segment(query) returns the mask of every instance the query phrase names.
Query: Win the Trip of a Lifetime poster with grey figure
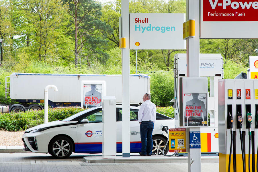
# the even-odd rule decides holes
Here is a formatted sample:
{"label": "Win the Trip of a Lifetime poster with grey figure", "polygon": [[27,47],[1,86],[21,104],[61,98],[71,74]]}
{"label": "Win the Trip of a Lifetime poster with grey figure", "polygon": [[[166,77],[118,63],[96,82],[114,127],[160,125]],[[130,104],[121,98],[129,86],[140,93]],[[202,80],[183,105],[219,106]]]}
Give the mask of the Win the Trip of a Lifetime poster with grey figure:
{"label": "Win the Trip of a Lifetime poster with grey figure", "polygon": [[207,94],[183,94],[184,126],[207,126]]}

